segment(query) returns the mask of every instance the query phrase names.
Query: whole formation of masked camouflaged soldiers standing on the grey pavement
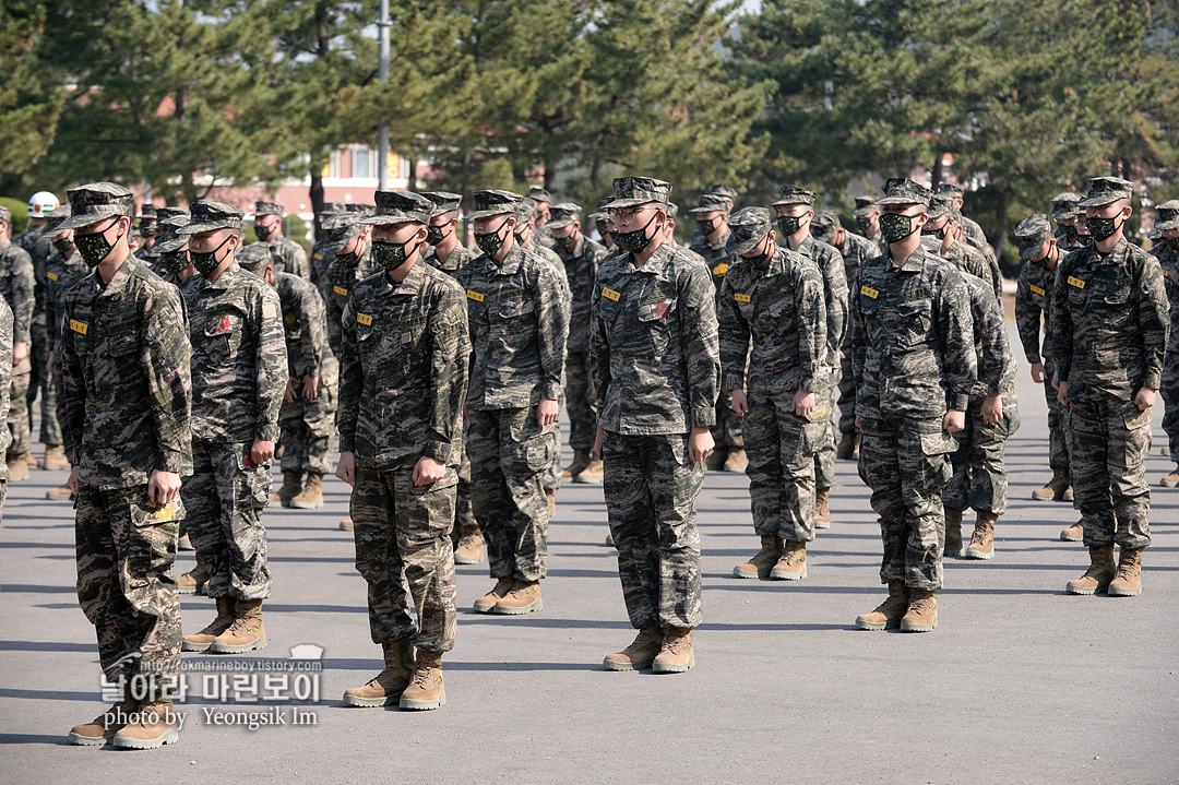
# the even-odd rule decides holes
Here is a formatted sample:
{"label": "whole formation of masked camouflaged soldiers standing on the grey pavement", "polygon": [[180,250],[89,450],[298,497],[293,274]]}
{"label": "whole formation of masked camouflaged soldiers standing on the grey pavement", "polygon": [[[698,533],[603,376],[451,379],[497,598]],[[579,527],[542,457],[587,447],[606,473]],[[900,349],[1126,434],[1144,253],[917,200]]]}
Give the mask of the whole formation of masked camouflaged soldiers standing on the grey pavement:
{"label": "whole formation of masked camouflaged soldiers standing on the grey pavement", "polygon": [[[971,239],[981,230],[961,191],[903,178],[883,191],[857,205],[857,236],[805,189],[735,211],[718,186],[692,210],[687,249],[663,180],[615,180],[588,216],[608,248],[582,232],[575,204],[480,191],[466,216],[477,253],[459,242],[457,194],[377,192],[374,207],[324,216],[310,262],[279,238],[277,205],[256,205],[259,242],[243,249],[242,211],[197,202],[157,209],[152,272],[131,253],[131,193],[71,190],[44,230],[60,270],[47,365],[74,467],[79,599],[104,671],[127,690],[71,738],[173,741],[182,646],[265,646],[261,513],[322,504],[334,431],[384,659],[349,705],[446,702],[456,561],[486,552],[495,582],[475,612],[542,609],[561,405],[574,449],[564,475],[604,483],[638,631],[607,669],[694,665],[706,466],[750,477],[762,547],[735,575],[803,580],[806,546],[830,526],[834,461],[858,449],[889,595],[856,625],[935,628],[943,556],[994,555],[1015,367],[994,251]],[[1021,339],[1060,404],[1050,461],[1068,473],[1091,550],[1074,593],[1137,594],[1150,540],[1141,469],[1170,317],[1158,260],[1122,237],[1131,197],[1128,183],[1094,178],[1069,215],[1054,211],[1062,227],[1086,211],[1093,242],[1067,258],[1046,216],[1016,232]],[[1179,220],[1160,209],[1158,229],[1173,268]],[[1038,368],[1043,357],[1053,364]],[[276,442],[284,482],[271,496]],[[1066,497],[1060,481],[1043,493]],[[203,586],[217,606],[183,640],[182,522],[198,562],[182,591]]]}

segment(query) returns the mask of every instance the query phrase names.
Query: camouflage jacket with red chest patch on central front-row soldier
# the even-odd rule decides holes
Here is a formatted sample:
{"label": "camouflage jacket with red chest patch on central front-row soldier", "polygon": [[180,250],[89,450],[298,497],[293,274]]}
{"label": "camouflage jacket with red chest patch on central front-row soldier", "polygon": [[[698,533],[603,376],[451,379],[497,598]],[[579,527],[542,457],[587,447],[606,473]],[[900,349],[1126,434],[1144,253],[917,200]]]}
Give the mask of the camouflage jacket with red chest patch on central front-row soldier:
{"label": "camouflage jacket with red chest patch on central front-row soldier", "polygon": [[594,283],[590,370],[598,422],[624,435],[711,427],[720,348],[709,272],[666,242],[641,268],[632,258],[610,257]]}

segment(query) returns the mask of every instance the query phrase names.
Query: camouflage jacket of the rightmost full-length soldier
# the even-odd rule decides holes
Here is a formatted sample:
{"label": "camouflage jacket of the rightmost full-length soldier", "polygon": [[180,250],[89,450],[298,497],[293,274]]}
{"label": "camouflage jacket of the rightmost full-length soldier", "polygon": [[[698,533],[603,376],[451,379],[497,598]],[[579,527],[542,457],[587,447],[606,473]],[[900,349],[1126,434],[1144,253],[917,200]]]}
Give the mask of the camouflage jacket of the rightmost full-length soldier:
{"label": "camouflage jacket of the rightmost full-length soldier", "polygon": [[1171,321],[1159,260],[1121,238],[1105,256],[1096,245],[1069,253],[1056,282],[1053,352],[1068,397],[1131,401],[1159,389]]}

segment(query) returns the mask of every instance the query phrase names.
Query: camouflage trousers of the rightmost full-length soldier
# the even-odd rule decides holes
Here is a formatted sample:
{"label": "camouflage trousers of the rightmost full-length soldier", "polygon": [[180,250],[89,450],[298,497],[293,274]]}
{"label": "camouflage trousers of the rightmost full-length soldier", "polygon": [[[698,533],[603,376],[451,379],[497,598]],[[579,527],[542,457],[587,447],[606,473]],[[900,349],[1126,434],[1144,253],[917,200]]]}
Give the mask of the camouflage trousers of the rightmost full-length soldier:
{"label": "camouflage trousers of the rightmost full-length soldier", "polygon": [[1146,456],[1152,410],[1113,397],[1073,400],[1068,408],[1069,477],[1085,545],[1145,548],[1151,545]]}

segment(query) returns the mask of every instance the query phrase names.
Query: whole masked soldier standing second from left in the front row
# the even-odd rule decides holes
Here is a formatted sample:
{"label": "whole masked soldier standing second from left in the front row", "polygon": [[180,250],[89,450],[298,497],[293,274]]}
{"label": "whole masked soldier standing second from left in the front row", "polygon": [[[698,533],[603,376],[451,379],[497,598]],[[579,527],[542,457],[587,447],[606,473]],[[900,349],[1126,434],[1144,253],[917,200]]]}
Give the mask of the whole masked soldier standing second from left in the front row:
{"label": "whole masked soldier standing second from left in the front row", "polygon": [[427,710],[446,705],[442,654],[456,626],[450,528],[467,306],[457,282],[422,259],[434,203],[378,191],[376,204],[364,223],[374,226],[382,272],[355,284],[344,311],[336,475],[353,486],[356,569],[368,582],[369,627],[386,667],[348,690],[344,702]]}

